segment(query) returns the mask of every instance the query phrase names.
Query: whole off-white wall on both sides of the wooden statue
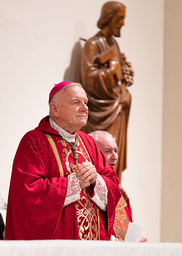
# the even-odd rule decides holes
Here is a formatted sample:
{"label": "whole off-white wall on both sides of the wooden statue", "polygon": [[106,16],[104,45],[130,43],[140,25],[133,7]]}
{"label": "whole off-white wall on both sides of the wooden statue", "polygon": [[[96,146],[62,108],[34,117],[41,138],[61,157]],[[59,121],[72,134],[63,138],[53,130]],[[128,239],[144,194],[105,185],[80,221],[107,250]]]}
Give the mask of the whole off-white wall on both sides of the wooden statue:
{"label": "whole off-white wall on both sides of the wooden statue", "polygon": [[[12,161],[22,136],[48,114],[55,83],[77,79],[79,37],[91,37],[105,0],[1,0],[0,190],[8,195]],[[133,220],[149,242],[160,240],[163,0],[125,0],[118,38],[135,70],[122,185]]]}

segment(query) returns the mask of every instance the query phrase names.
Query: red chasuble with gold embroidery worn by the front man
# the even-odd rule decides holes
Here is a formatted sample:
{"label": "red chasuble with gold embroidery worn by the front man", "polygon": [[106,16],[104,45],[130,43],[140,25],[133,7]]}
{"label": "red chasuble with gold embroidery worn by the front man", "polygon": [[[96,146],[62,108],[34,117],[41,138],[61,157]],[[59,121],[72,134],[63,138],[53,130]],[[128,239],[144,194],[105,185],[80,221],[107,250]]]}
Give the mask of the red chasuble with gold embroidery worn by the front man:
{"label": "red chasuble with gold embroidery worn by the front man", "polygon": [[95,165],[106,182],[108,207],[103,212],[90,199],[92,186],[81,191],[80,200],[63,207],[67,176],[74,172],[75,161],[71,145],[57,135],[48,116],[20,141],[10,181],[5,239],[110,240],[121,197],[114,168],[89,135],[77,132],[78,163],[91,161]]}

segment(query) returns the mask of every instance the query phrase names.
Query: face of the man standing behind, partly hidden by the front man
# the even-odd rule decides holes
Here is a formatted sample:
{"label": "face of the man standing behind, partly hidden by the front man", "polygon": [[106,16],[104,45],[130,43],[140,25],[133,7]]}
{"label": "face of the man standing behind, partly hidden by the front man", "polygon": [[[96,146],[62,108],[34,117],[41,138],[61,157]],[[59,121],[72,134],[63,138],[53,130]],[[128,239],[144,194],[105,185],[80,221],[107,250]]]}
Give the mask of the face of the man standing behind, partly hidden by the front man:
{"label": "face of the man standing behind, partly hidden by the front man", "polygon": [[99,142],[97,143],[98,148],[104,153],[107,159],[107,163],[112,165],[116,169],[118,155],[117,155],[117,144],[114,138],[109,135],[100,136]]}

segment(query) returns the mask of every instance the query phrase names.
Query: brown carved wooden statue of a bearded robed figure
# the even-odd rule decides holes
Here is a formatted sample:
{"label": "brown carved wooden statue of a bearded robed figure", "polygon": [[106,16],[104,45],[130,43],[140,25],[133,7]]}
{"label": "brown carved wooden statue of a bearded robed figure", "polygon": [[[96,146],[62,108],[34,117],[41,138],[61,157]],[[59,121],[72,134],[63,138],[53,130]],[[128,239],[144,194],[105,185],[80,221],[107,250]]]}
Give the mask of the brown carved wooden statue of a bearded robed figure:
{"label": "brown carved wooden statue of a bearded robed figure", "polygon": [[106,2],[97,26],[101,29],[86,41],[81,58],[81,84],[88,101],[89,116],[82,131],[105,130],[113,135],[118,145],[116,173],[126,168],[127,124],[131,95],[127,86],[133,83],[133,69],[120,52],[114,37],[120,37],[124,25],[125,5]]}

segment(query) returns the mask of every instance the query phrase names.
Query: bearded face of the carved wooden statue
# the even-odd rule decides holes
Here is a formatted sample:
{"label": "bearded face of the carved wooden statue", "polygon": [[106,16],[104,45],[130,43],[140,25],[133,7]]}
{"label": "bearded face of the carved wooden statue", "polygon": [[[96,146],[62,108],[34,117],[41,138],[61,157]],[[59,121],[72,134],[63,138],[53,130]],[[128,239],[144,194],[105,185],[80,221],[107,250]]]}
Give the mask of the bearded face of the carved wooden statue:
{"label": "bearded face of the carved wooden statue", "polygon": [[120,37],[121,27],[124,26],[125,24],[124,19],[125,19],[125,8],[122,7],[121,9],[118,10],[118,12],[111,19],[111,22],[108,25],[113,36]]}

